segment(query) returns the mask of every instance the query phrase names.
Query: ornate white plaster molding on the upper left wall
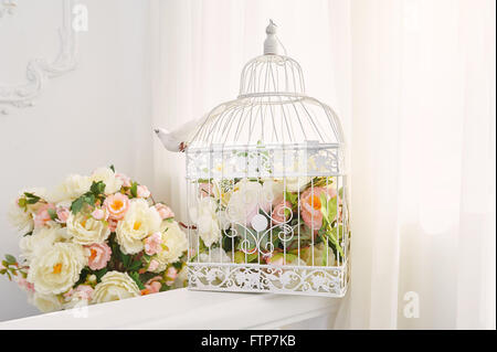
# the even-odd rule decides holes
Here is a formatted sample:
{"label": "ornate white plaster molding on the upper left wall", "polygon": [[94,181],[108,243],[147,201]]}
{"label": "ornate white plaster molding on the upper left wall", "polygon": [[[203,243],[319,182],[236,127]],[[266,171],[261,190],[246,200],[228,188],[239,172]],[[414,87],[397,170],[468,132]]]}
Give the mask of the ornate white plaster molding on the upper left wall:
{"label": "ornate white plaster molding on the upper left wall", "polygon": [[[33,106],[36,98],[45,88],[50,78],[61,76],[76,67],[76,33],[72,28],[72,9],[74,0],[61,0],[62,26],[59,29],[60,50],[55,58],[29,60],[25,71],[27,81],[18,85],[0,83],[0,113],[9,114],[8,107],[23,108]],[[4,13],[11,13],[9,9],[15,7],[14,1],[1,2],[0,9],[8,6]],[[2,10],[0,10],[2,11]],[[1,18],[1,15],[0,15]]]}

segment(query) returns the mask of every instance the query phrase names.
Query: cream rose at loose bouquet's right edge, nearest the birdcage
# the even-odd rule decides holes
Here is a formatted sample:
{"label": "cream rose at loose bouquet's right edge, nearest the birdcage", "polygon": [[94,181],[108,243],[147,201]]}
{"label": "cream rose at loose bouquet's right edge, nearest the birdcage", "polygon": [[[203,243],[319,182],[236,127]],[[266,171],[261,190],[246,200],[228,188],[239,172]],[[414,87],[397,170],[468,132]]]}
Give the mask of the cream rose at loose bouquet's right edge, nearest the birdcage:
{"label": "cream rose at loose bouquet's right edge, nearest the birdcage", "polygon": [[152,257],[159,265],[151,270],[152,273],[166,270],[168,264],[178,262],[183,252],[188,249],[187,235],[181,231],[178,223],[176,221],[171,223],[165,221],[165,223],[166,231],[161,232],[162,250]]}

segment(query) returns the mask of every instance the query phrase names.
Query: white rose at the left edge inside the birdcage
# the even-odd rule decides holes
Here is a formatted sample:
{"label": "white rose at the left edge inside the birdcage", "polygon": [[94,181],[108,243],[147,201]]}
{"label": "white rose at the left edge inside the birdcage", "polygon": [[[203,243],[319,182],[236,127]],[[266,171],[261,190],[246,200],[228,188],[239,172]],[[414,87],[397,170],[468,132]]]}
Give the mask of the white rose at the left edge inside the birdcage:
{"label": "white rose at the left edge inside the birdcage", "polygon": [[221,238],[216,207],[216,202],[207,196],[202,198],[195,207],[190,209],[191,221],[197,225],[199,236],[208,247]]}

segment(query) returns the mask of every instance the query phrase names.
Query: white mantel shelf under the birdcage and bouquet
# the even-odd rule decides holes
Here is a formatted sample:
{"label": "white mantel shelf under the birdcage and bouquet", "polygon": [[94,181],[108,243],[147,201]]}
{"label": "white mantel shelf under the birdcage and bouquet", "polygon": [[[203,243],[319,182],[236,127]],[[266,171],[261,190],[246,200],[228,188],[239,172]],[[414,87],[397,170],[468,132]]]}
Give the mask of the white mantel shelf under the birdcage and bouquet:
{"label": "white mantel shelf under the birdcage and bouquet", "polygon": [[[0,329],[277,329],[332,314],[339,299],[177,289],[0,322]],[[86,316],[86,317],[85,317]]]}

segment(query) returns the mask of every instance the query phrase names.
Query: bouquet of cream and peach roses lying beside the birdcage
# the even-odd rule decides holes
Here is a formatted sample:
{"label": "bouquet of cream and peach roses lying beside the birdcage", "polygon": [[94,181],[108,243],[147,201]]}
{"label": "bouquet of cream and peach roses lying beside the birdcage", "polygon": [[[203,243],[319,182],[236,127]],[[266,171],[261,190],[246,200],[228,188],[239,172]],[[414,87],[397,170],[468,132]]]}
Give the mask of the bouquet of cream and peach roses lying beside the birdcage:
{"label": "bouquet of cream and peach roses lying beside the birdcage", "polygon": [[23,234],[21,258],[0,274],[41,311],[137,297],[186,284],[187,236],[146,185],[99,168],[47,192],[20,193],[10,218]]}

